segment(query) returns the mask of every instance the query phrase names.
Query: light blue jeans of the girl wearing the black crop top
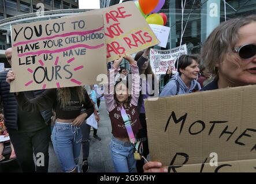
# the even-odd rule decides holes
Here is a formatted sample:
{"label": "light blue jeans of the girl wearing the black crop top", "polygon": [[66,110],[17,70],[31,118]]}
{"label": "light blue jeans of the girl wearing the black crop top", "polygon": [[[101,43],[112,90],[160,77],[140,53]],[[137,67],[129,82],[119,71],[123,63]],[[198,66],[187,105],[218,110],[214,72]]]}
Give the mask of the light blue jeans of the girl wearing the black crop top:
{"label": "light blue jeans of the girl wearing the black crop top", "polygon": [[75,170],[79,162],[81,139],[80,127],[56,121],[51,133],[51,141],[64,172]]}

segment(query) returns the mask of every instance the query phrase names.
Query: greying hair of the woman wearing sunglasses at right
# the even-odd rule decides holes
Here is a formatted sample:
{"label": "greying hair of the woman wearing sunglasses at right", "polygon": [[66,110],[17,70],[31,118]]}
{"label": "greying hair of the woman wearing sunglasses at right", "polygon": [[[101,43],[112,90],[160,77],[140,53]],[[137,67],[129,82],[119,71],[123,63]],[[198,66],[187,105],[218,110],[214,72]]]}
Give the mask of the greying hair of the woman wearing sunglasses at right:
{"label": "greying hair of the woman wearing sunglasses at right", "polygon": [[207,37],[201,51],[202,62],[210,73],[216,74],[216,64],[234,55],[233,49],[238,42],[239,29],[256,21],[256,15],[239,17],[222,22]]}

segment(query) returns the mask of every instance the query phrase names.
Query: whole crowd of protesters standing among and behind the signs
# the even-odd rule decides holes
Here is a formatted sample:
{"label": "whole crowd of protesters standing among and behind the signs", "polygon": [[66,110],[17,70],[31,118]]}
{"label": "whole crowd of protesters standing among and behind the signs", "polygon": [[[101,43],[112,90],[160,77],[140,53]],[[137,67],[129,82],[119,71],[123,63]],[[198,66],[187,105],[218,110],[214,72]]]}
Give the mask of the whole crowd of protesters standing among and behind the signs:
{"label": "whole crowd of protesters standing among and behind the signs", "polygon": [[[222,22],[207,37],[199,55],[177,58],[177,74],[168,68],[165,86],[159,94],[157,77],[149,63],[150,48],[136,53],[134,58],[125,53],[115,60],[104,94],[99,95],[94,86],[10,93],[9,84],[16,75],[11,70],[1,72],[5,125],[22,170],[47,172],[51,133],[62,170],[80,172],[78,160],[82,147],[82,170],[87,172],[91,127],[84,122],[90,116],[99,121],[99,99],[104,95],[112,125],[110,152],[114,170],[118,173],[167,172],[160,162],[144,162],[150,153],[144,99],[256,84],[255,33],[255,15]],[[6,58],[12,64],[11,48],[6,50]],[[123,58],[128,60],[132,75],[120,67]],[[50,132],[53,111],[56,120]],[[100,140],[97,131],[94,138]],[[46,156],[43,167],[34,164],[33,154],[38,152]]]}

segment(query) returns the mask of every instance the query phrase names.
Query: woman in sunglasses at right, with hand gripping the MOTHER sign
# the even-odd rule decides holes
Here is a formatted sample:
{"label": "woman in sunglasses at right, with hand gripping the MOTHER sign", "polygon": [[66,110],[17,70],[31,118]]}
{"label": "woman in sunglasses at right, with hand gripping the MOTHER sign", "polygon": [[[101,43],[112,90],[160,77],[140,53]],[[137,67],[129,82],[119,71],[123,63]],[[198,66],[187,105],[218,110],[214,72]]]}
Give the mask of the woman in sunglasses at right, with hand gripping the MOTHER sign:
{"label": "woman in sunglasses at right, with hand gripping the MOTHER sign", "polygon": [[[206,68],[215,75],[202,91],[256,84],[256,15],[222,22],[202,49]],[[147,162],[146,173],[166,173],[160,162]]]}

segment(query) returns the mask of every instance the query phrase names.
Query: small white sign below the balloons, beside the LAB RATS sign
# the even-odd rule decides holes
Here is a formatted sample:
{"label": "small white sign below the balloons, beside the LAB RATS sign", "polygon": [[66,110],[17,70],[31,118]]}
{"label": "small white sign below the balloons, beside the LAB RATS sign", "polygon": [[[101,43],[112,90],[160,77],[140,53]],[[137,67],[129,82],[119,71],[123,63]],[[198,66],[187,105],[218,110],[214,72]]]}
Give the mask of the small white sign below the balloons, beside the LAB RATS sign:
{"label": "small white sign below the balloons, beside the LAB RATS sign", "polygon": [[160,43],[157,45],[159,47],[166,48],[167,40],[169,39],[170,28],[163,25],[157,25],[157,24],[149,24],[149,26],[153,30],[157,39],[160,41]]}

